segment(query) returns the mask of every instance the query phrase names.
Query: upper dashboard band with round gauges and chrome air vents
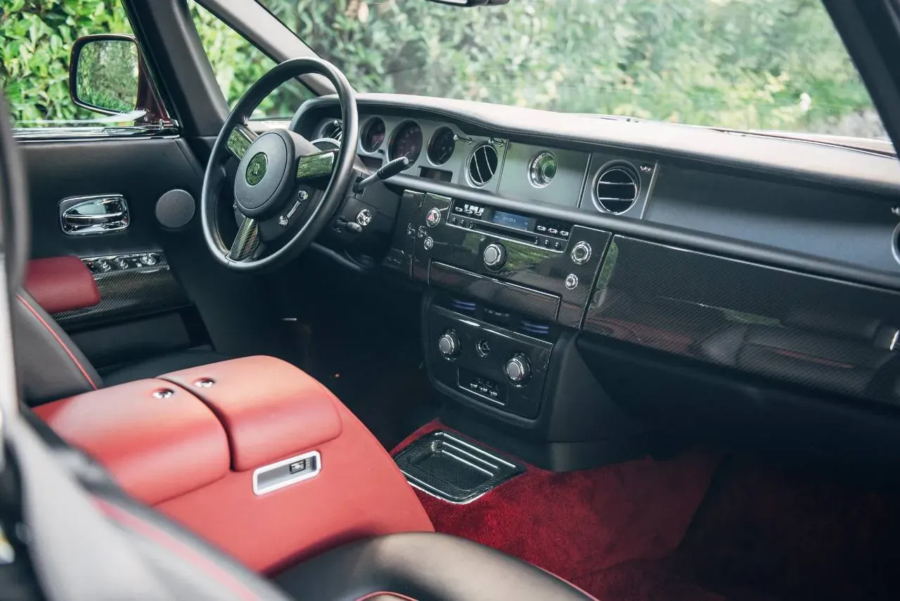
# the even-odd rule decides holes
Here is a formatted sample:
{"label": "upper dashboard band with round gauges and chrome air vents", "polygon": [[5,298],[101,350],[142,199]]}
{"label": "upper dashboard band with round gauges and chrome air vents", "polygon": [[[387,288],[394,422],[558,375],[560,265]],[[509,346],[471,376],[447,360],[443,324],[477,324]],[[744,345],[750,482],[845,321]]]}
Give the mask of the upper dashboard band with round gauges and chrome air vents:
{"label": "upper dashboard band with round gauges and chrome air vents", "polygon": [[[502,132],[466,132],[446,120],[363,114],[361,123],[358,151],[369,168],[403,155],[410,159],[404,175],[412,178],[660,223],[900,275],[898,220],[891,212],[896,201],[891,186],[900,186],[896,159],[829,149],[829,160],[819,173],[791,173],[789,165],[776,163],[765,167],[782,168],[784,174],[761,178],[762,165],[750,166],[748,172],[600,145],[575,150],[558,142],[510,140]],[[333,118],[321,117],[304,133],[329,137],[332,126]],[[691,129],[686,133],[697,133]],[[822,150],[799,141],[767,142],[775,158],[810,147]],[[717,150],[710,147],[707,160]],[[829,163],[841,161],[842,155],[880,165],[878,178],[854,182],[865,169],[845,168],[846,181],[836,187],[828,181],[837,174]],[[878,188],[880,194],[874,192]]]}

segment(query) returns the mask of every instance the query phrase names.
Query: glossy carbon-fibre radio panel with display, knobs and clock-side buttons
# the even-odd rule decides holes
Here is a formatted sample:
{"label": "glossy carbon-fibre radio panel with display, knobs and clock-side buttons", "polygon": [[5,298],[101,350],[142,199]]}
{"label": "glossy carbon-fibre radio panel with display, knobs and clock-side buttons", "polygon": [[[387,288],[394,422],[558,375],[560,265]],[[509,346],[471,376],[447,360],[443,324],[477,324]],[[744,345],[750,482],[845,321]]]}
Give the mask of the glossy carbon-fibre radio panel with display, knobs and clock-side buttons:
{"label": "glossy carbon-fibre radio panel with display, knobs and clock-side buttons", "polygon": [[515,314],[581,326],[610,232],[410,190],[403,201],[401,211],[418,208],[418,219],[395,234],[405,246],[392,256],[411,250],[412,279]]}

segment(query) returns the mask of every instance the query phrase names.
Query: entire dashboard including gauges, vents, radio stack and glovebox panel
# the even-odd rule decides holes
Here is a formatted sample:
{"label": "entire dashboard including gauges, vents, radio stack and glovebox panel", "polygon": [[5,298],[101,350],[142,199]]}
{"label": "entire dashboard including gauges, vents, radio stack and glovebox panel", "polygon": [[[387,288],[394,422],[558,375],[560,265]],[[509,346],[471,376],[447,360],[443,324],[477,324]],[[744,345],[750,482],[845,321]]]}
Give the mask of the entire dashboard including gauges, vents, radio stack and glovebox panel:
{"label": "entire dashboard including gauges, vents, radio stack and glovebox panel", "polygon": [[[572,404],[554,361],[574,345],[598,396],[666,420],[690,398],[739,427],[812,411],[824,433],[846,426],[835,407],[900,408],[896,157],[418,96],[358,103],[365,166],[410,159],[386,182],[401,201],[381,265],[425,289],[429,375],[458,403],[550,428]],[[292,127],[328,137],[336,110],[308,102]]]}

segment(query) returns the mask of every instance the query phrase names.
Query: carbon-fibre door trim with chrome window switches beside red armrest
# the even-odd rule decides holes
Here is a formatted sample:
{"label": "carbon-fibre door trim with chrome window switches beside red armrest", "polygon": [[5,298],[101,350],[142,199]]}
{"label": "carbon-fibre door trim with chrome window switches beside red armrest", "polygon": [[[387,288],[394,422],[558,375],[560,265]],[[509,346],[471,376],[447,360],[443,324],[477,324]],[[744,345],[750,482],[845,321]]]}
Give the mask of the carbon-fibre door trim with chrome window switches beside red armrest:
{"label": "carbon-fibre door trim with chrome window switches beside red armrest", "polygon": [[[94,272],[100,288],[100,303],[84,309],[54,314],[53,318],[67,330],[79,330],[148,314],[163,313],[190,305],[184,289],[169,269],[165,255],[152,253],[157,262],[141,262],[145,253],[112,255],[82,259]],[[127,267],[120,268],[116,260]],[[98,264],[110,270],[97,272]]]}

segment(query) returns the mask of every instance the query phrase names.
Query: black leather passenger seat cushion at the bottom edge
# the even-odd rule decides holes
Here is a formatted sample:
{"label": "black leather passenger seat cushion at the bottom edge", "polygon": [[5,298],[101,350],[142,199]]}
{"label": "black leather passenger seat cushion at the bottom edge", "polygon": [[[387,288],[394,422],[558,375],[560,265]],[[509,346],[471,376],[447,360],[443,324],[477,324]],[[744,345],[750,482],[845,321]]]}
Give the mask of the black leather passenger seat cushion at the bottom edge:
{"label": "black leather passenger seat cushion at the bottom edge", "polygon": [[347,544],[284,571],[275,582],[294,599],[316,601],[593,598],[530,563],[437,533],[391,534]]}

